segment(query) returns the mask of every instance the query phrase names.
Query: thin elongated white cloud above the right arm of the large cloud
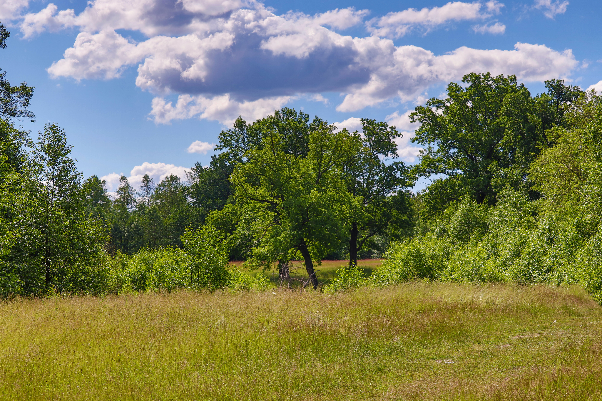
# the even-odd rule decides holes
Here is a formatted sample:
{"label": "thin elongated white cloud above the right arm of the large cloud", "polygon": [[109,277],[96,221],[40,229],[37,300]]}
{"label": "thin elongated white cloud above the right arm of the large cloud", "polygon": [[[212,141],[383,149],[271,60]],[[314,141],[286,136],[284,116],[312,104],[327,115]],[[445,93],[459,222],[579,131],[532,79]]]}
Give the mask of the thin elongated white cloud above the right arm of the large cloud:
{"label": "thin elongated white cloud above the right arm of the large cloud", "polygon": [[373,35],[399,38],[418,26],[428,30],[450,21],[485,19],[499,13],[501,7],[504,7],[504,4],[494,0],[485,4],[448,2],[441,7],[425,7],[421,10],[408,8],[396,13],[388,13],[386,16],[368,21],[366,27]]}

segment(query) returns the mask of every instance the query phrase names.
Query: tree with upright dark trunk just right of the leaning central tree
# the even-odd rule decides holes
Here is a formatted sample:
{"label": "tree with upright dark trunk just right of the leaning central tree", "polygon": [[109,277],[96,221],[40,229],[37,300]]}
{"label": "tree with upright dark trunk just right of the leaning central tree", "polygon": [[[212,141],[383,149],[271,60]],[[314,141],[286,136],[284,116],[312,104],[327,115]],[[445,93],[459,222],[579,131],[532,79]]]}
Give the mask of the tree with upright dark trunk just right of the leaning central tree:
{"label": "tree with upright dark trunk just right of the leaning central tree", "polygon": [[399,191],[411,185],[408,171],[403,162],[387,163],[398,157],[395,139],[401,135],[385,122],[362,118],[361,123],[364,136],[354,133],[357,147],[346,154],[343,167],[350,194],[361,198],[351,215],[350,266],[357,265],[358,252],[371,238],[409,222],[409,195]]}

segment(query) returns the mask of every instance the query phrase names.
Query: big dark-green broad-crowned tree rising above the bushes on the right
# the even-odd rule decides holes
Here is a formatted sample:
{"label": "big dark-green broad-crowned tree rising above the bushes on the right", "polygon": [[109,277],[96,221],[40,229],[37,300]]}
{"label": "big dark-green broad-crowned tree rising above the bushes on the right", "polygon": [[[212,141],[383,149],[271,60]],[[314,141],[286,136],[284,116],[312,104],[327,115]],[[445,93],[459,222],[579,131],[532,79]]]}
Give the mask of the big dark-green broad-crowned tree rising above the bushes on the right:
{"label": "big dark-green broad-crowned tree rising above the bushes on the right", "polygon": [[420,122],[412,139],[427,147],[414,173],[439,174],[424,194],[432,214],[464,195],[494,204],[498,191],[526,182],[529,164],[550,143],[545,131],[562,121],[579,96],[575,87],[547,81],[545,96],[531,97],[514,75],[465,75],[450,83],[445,99],[432,98],[410,115]]}

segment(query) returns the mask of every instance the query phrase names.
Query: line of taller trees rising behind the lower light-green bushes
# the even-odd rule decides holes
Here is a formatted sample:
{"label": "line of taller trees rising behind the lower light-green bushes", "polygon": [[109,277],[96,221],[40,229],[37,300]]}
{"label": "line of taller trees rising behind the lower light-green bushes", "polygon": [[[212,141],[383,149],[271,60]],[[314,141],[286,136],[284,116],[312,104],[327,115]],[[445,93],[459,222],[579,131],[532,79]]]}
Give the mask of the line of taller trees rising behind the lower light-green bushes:
{"label": "line of taller trees rising behind the lower light-green bushes", "polygon": [[[0,27],[5,47],[9,33]],[[504,191],[529,201],[545,196],[530,168],[594,96],[559,79],[532,96],[514,75],[465,75],[463,84],[448,85],[445,99],[412,112],[420,123],[412,141],[424,146],[414,166],[396,160],[401,134],[385,122],[362,118],[359,133],[290,108],[252,123],[239,117],[220,132],[221,152],[208,167],[197,163],[186,182],[145,175],[135,189],[121,177],[112,200],[98,176],[84,180],[78,172],[60,127],[46,124],[34,142],[14,126],[33,120],[34,88],[12,87],[4,77],[0,286],[26,294],[85,292],[107,256],[182,248],[193,232],[211,233],[229,259],[251,269],[278,265],[282,280],[290,278],[289,262],[302,259],[317,288],[314,263],[346,258],[356,266],[389,242],[429,233],[468,198],[495,207]],[[433,175],[439,178],[426,190],[411,192],[417,177]]]}

